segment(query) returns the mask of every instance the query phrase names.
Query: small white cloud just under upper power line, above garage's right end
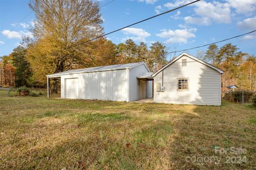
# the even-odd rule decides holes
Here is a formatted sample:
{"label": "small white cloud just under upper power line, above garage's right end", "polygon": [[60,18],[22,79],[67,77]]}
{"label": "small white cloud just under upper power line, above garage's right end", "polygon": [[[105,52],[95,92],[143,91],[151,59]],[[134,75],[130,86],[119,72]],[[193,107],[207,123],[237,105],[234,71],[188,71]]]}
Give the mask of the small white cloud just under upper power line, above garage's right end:
{"label": "small white cloud just under upper power line, above garage's right end", "polygon": [[145,38],[151,36],[150,33],[141,28],[125,28],[122,30],[125,35],[134,35],[125,39],[133,39],[134,41],[146,41]]}

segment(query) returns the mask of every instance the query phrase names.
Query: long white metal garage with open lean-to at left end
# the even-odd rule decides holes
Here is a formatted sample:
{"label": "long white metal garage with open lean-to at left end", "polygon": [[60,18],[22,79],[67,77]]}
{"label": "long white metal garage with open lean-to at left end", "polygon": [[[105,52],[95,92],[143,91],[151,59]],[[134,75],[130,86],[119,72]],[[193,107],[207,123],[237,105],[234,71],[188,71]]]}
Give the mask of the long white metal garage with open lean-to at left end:
{"label": "long white metal garage with open lean-to at left end", "polygon": [[145,97],[151,98],[152,81],[141,82],[142,80],[137,79],[138,75],[145,73],[149,73],[149,70],[143,62],[55,73],[47,75],[48,96],[50,96],[49,79],[60,77],[61,98],[127,102]]}

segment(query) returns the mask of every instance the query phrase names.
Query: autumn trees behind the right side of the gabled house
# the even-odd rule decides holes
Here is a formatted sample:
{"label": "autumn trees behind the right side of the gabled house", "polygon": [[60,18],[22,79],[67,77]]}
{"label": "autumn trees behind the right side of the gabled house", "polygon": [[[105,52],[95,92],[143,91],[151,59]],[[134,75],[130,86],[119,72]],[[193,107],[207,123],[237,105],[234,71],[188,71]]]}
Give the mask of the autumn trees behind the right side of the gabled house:
{"label": "autumn trees behind the right side of the gabled house", "polygon": [[231,43],[221,48],[210,45],[204,60],[225,71],[222,74],[223,90],[227,90],[230,84],[236,84],[240,90],[256,91],[256,58],[238,50]]}

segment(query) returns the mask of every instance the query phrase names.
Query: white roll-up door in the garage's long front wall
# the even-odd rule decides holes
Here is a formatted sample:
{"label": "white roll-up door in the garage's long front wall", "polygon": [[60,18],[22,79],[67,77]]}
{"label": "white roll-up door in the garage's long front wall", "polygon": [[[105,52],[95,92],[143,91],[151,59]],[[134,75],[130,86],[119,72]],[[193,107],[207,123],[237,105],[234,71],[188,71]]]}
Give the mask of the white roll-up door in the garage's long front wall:
{"label": "white roll-up door in the garage's long front wall", "polygon": [[65,94],[67,99],[78,99],[78,78],[65,79],[66,89]]}

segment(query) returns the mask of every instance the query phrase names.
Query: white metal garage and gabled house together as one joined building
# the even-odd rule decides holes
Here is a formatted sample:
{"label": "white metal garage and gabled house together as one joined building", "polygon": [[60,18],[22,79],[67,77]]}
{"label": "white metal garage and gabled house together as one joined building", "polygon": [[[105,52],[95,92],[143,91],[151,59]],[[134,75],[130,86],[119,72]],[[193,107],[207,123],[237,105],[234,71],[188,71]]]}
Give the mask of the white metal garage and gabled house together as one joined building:
{"label": "white metal garage and gabled house together as one joined building", "polygon": [[50,79],[59,77],[61,98],[66,99],[130,102],[154,96],[155,103],[219,106],[221,74],[217,67],[182,53],[155,73],[140,62],[50,74],[47,95]]}

